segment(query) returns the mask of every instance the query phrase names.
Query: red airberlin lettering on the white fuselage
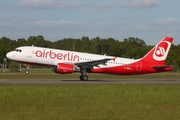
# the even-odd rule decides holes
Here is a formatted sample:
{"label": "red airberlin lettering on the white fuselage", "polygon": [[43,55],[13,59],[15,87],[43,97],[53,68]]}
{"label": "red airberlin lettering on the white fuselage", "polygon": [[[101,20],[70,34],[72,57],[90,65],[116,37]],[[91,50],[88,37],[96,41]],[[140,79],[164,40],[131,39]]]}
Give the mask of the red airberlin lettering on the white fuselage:
{"label": "red airberlin lettering on the white fuselage", "polygon": [[58,53],[56,53],[56,52],[53,52],[52,50],[46,51],[44,49],[44,50],[35,51],[35,55],[37,57],[41,57],[41,58],[51,58],[51,59],[79,62],[79,56],[74,55],[72,52],[68,52],[68,53],[60,53],[60,52],[58,52]]}

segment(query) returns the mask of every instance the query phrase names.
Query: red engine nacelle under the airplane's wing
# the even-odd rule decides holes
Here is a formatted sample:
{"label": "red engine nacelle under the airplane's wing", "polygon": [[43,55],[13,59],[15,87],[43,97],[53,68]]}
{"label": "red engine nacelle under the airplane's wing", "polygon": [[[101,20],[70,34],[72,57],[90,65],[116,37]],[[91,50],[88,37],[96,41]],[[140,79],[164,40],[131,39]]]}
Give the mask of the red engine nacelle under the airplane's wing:
{"label": "red engine nacelle under the airplane's wing", "polygon": [[70,74],[75,70],[73,64],[58,63],[55,68],[55,73]]}

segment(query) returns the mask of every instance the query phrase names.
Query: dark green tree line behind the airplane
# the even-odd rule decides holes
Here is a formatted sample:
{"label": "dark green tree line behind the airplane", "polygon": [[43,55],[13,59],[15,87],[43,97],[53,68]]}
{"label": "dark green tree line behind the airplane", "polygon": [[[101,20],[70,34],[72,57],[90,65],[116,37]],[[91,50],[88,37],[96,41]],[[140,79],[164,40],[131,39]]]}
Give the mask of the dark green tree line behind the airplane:
{"label": "dark green tree line behind the airplane", "polygon": [[[143,57],[152,47],[154,47],[152,45],[146,45],[144,40],[136,37],[115,40],[113,38],[102,39],[100,37],[89,39],[88,37],[83,36],[80,39],[64,38],[54,42],[45,40],[42,35],[30,36],[27,39],[19,38],[17,40],[2,37],[0,38],[0,64],[2,65],[7,52],[12,51],[19,46],[31,45],[134,59]],[[180,45],[172,44],[166,64],[173,65],[174,71],[178,71],[180,68],[179,52]],[[11,61],[8,60],[8,65],[10,63]]]}

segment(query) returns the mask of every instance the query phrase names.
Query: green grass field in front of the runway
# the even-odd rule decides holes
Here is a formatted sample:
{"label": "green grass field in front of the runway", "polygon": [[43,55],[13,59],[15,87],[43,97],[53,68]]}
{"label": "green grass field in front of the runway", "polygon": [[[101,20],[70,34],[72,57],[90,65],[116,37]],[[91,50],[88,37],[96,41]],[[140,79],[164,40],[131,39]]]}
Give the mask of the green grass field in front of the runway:
{"label": "green grass field in front of the runway", "polygon": [[179,85],[0,85],[2,120],[180,119]]}

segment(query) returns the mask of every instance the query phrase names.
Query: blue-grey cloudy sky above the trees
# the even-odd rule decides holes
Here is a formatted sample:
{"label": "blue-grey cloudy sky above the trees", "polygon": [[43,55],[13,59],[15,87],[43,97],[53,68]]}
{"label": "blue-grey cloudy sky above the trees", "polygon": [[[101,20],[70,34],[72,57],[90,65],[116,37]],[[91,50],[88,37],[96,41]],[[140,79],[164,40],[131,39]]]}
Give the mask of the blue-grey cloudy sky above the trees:
{"label": "blue-grey cloudy sky above the trees", "polygon": [[138,37],[156,45],[169,36],[177,45],[179,5],[180,0],[1,0],[0,38]]}

